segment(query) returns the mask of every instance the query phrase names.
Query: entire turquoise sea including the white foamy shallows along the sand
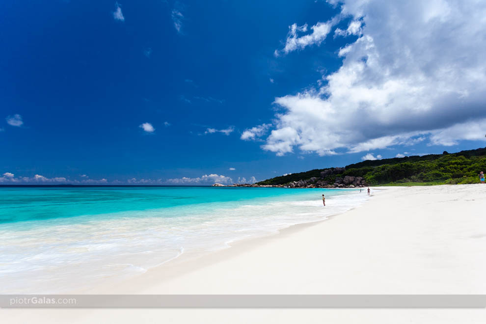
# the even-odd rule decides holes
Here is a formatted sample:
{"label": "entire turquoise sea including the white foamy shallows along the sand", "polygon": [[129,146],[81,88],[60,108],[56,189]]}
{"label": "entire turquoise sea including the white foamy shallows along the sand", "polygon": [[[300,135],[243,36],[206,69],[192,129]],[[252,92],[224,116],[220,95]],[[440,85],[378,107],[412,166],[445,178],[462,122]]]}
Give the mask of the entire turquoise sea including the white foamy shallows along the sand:
{"label": "entire turquoise sea including the white foamy shallows along the sand", "polygon": [[332,189],[3,187],[0,293],[72,292],[322,220],[366,199],[359,190]]}

